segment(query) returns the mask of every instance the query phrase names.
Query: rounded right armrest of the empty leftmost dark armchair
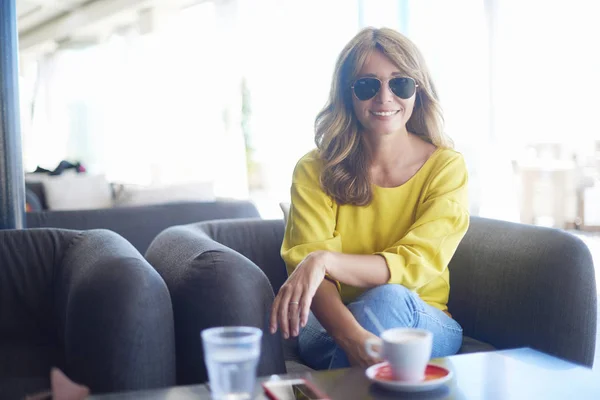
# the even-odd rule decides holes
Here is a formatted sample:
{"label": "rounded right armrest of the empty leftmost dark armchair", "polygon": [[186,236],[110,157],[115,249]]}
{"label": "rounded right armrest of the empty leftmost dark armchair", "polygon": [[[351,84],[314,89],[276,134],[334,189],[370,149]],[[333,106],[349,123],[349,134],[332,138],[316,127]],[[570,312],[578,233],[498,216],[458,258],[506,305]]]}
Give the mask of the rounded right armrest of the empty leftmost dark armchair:
{"label": "rounded right armrest of the empty leftmost dark armchair", "polygon": [[55,310],[66,372],[93,392],[175,384],[169,292],[125,239],[81,232],[55,276]]}

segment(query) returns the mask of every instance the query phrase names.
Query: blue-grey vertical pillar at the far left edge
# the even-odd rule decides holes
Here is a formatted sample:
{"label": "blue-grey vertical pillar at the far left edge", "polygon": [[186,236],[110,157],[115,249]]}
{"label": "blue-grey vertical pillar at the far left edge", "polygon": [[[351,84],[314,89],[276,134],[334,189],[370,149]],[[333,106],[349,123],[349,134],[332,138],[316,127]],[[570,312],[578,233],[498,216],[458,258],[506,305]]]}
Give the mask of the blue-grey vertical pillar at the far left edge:
{"label": "blue-grey vertical pillar at the far left edge", "polygon": [[25,221],[15,0],[0,0],[0,229]]}

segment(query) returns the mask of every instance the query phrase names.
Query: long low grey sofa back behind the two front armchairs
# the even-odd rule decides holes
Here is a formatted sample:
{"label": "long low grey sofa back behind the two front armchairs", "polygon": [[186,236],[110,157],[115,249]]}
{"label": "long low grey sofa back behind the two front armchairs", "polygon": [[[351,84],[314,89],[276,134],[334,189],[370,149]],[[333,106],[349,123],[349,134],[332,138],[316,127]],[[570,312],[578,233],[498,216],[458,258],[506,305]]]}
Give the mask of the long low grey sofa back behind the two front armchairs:
{"label": "long low grey sofa back behind the two front armchairs", "polygon": [[142,207],[27,213],[27,228],[109,229],[142,254],[164,229],[213,219],[259,218],[249,201],[181,202]]}

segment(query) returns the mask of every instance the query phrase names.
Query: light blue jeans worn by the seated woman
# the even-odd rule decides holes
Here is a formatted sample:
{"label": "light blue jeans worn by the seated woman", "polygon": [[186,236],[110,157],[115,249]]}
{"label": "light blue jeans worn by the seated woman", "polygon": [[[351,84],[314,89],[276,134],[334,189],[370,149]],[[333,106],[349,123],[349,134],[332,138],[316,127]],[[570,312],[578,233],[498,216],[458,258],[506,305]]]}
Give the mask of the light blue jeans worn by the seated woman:
{"label": "light blue jeans worn by the seated woman", "polygon": [[[421,328],[433,333],[432,358],[445,357],[460,349],[462,328],[443,311],[425,303],[419,295],[402,285],[388,284],[370,289],[348,304],[358,323],[371,333],[380,332],[365,313],[368,306],[384,329]],[[313,369],[349,367],[346,353],[310,313],[300,330],[298,347],[302,360]]]}

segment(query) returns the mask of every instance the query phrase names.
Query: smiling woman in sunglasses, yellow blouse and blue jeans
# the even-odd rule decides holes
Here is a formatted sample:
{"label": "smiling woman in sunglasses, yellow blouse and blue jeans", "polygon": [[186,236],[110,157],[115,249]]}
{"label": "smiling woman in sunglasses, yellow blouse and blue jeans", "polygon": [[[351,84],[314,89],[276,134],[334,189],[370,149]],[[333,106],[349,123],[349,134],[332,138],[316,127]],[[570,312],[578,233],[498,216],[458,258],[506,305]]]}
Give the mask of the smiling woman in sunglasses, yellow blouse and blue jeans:
{"label": "smiling woman in sunglasses, yellow blouse and blue jeans", "polygon": [[315,131],[317,149],[292,178],[281,249],[290,276],[271,332],[299,335],[312,368],[368,366],[378,361],[364,349],[380,333],[372,311],[384,329],[433,332],[433,357],[456,353],[448,263],[469,225],[468,176],[416,46],[391,29],[359,32]]}

